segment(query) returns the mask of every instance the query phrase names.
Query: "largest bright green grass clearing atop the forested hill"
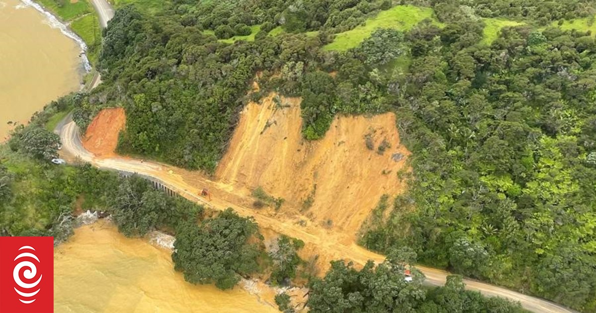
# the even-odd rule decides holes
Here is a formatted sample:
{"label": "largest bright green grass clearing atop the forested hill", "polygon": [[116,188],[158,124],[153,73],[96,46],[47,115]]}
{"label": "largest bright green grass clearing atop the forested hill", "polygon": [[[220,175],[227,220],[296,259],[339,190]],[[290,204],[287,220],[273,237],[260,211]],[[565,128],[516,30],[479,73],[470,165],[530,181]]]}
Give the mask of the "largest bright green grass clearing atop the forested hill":
{"label": "largest bright green grass clearing atop the forested hill", "polygon": [[331,44],[325,45],[323,49],[327,51],[346,51],[358,47],[377,28],[408,30],[425,18],[432,18],[435,24],[442,26],[439,21],[434,20],[431,8],[398,5],[389,10],[381,11],[373,18],[369,18],[364,26],[358,26],[355,29],[337,34],[335,40]]}

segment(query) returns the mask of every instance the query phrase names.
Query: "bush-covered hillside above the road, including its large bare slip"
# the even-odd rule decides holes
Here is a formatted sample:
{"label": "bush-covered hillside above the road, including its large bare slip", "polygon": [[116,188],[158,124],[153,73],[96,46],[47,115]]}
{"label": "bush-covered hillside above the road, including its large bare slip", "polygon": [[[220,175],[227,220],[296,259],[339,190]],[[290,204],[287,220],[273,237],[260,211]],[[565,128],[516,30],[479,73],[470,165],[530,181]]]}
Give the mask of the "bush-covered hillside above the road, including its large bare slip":
{"label": "bush-covered hillside above the road, including its large bare slip", "polygon": [[254,212],[593,312],[591,3],[425,5],[123,7],[73,116],[123,107],[118,150],[194,188],[214,175]]}

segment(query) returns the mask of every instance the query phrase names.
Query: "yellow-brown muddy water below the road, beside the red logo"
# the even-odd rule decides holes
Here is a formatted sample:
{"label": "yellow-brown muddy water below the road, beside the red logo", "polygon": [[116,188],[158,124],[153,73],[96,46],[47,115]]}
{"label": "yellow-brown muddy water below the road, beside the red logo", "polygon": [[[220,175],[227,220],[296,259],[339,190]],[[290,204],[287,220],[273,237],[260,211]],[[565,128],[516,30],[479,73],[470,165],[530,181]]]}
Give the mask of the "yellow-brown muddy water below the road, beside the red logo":
{"label": "yellow-brown muddy water below the road, beside the red logo", "polygon": [[239,287],[185,282],[168,250],[105,221],[54,250],[54,297],[55,312],[278,312]]}

